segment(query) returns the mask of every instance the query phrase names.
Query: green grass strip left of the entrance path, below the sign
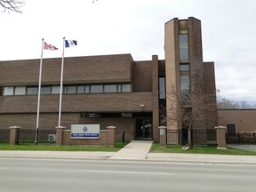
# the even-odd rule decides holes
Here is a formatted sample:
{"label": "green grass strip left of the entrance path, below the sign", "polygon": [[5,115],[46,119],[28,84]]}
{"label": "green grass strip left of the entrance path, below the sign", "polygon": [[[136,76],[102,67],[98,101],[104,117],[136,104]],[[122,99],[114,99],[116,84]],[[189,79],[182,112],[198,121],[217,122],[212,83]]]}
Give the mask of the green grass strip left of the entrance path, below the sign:
{"label": "green grass strip left of the entrance path, below the sign", "polygon": [[115,152],[124,148],[127,143],[116,142],[115,146],[58,146],[55,143],[20,143],[10,145],[0,141],[0,150],[49,150],[49,151],[109,151]]}

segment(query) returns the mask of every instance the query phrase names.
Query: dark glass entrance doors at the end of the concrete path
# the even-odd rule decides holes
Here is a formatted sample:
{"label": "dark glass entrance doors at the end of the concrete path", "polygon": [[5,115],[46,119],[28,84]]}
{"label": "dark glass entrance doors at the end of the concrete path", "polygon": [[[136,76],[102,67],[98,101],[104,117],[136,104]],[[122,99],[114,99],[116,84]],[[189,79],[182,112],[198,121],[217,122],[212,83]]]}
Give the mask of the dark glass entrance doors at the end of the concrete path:
{"label": "dark glass entrance doors at the end of the concrete path", "polygon": [[136,140],[152,140],[152,122],[151,118],[136,119]]}

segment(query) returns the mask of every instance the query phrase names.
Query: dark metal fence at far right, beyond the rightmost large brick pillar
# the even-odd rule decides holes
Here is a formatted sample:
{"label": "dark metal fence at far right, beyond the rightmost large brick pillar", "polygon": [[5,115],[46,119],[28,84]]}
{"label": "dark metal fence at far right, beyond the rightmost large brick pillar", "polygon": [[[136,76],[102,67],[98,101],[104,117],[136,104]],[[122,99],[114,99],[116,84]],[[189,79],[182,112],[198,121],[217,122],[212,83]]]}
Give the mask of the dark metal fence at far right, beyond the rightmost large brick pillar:
{"label": "dark metal fence at far right, beyond the rightmost large brick pillar", "polygon": [[232,143],[256,143],[256,132],[237,132],[233,135],[226,134],[226,142]]}

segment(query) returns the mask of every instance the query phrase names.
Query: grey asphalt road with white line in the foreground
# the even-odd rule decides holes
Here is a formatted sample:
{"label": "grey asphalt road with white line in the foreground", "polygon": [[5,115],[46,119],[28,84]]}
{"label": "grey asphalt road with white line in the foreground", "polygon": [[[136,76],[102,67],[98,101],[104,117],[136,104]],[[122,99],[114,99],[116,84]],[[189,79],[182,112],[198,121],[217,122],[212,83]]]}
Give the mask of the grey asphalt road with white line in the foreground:
{"label": "grey asphalt road with white line in the foreground", "polygon": [[252,192],[256,165],[1,158],[2,192]]}

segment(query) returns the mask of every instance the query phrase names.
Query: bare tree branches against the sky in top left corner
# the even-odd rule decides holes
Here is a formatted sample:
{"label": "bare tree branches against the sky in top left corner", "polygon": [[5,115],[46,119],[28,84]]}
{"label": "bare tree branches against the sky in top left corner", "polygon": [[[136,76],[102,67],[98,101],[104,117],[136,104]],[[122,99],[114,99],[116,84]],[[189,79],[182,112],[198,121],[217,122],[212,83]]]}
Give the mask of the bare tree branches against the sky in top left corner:
{"label": "bare tree branches against the sky in top left corner", "polygon": [[20,8],[25,4],[23,0],[0,0],[0,5],[4,9],[4,12],[19,12]]}

